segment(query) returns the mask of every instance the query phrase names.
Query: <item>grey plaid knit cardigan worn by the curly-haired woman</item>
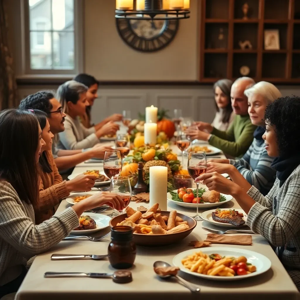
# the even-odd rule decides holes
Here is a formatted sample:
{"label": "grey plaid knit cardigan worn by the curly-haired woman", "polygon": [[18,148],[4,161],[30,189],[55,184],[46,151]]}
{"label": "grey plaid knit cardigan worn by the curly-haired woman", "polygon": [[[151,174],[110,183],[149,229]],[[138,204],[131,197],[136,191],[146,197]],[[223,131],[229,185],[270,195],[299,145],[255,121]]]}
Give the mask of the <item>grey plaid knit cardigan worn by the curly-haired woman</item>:
{"label": "grey plaid knit cardigan worn by the curly-haired woman", "polygon": [[251,207],[246,224],[278,247],[280,260],[300,288],[300,165],[281,187],[276,178],[270,192],[263,196],[255,187],[247,194],[256,203]]}

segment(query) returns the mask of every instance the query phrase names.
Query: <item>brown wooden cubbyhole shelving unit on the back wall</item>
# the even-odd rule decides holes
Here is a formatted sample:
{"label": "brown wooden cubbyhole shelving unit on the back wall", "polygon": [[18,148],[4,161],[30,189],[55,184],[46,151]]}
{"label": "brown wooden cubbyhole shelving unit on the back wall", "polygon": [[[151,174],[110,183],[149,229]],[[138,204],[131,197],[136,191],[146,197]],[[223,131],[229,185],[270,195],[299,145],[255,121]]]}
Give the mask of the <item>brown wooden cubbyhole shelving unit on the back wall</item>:
{"label": "brown wooden cubbyhole shelving unit on the back wall", "polygon": [[[200,82],[234,80],[247,66],[247,76],[256,81],[300,83],[300,0],[201,0],[201,5]],[[279,31],[280,49],[265,49],[267,29]],[[252,49],[241,49],[239,42],[247,40]]]}

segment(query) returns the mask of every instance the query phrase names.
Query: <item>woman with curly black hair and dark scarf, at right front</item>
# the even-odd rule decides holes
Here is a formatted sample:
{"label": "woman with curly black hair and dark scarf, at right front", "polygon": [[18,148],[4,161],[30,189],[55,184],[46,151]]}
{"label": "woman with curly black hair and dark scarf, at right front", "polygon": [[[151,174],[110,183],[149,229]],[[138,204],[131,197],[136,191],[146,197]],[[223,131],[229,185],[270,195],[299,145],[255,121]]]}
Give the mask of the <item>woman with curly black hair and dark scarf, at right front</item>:
{"label": "woman with curly black hair and dark scarf, at right front", "polygon": [[[247,214],[246,224],[264,236],[300,289],[300,97],[278,98],[265,111],[265,149],[277,171],[263,196],[246,179],[236,184],[217,172],[199,176],[209,190],[232,195]],[[209,165],[209,163],[208,163]]]}

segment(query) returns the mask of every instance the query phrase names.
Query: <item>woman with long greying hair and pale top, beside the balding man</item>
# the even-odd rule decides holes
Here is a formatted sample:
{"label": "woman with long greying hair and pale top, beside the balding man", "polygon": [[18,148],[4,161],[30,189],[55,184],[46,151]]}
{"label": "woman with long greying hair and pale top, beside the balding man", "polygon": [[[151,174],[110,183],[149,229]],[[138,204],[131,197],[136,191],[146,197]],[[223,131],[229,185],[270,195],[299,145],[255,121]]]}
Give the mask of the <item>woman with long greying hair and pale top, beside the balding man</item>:
{"label": "woman with long greying hair and pale top, beside the balding man", "polygon": [[214,100],[216,105],[216,115],[211,126],[226,131],[233,122],[235,114],[232,112],[230,101],[230,90],[232,81],[229,79],[220,79],[214,83]]}

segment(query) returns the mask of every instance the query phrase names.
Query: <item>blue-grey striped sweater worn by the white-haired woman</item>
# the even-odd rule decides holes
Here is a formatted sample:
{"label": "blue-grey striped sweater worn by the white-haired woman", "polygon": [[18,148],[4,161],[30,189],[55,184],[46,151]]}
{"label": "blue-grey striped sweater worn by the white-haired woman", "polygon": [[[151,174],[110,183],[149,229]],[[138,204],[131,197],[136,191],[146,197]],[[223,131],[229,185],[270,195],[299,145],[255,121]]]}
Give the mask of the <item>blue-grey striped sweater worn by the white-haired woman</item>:
{"label": "blue-grey striped sweater worn by the white-haired woman", "polygon": [[240,159],[230,159],[229,163],[237,168],[251,185],[266,195],[274,184],[276,171],[271,168],[273,158],[268,156],[262,139],[254,139],[246,154]]}

